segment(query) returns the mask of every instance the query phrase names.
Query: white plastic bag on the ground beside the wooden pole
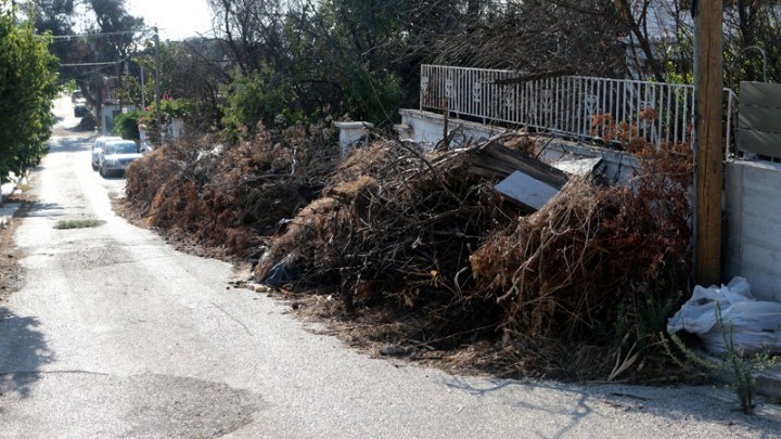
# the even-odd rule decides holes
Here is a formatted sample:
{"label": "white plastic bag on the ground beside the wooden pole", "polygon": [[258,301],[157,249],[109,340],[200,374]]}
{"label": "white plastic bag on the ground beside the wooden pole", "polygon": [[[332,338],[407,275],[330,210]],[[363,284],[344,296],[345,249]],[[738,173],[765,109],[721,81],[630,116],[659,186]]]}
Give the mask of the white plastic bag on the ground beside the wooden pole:
{"label": "white plastic bag on the ground beside the wooden pole", "polygon": [[[717,321],[717,304],[721,322]],[[728,350],[726,341],[730,336],[734,348],[743,353],[763,349],[781,352],[781,304],[754,299],[743,277],[734,277],[720,287],[697,285],[692,298],[669,319],[667,331],[696,334],[705,349],[714,353]]]}

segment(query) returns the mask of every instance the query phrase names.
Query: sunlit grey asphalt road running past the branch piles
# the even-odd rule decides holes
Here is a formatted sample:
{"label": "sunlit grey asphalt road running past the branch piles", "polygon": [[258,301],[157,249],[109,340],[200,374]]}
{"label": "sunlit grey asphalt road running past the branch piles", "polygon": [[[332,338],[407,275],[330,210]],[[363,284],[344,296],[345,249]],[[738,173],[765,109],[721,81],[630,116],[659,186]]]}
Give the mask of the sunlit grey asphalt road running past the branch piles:
{"label": "sunlit grey asphalt road running past the branch piles", "polygon": [[[453,376],[355,352],[228,287],[229,264],[117,217],[124,180],[91,170],[87,139],[53,139],[31,185],[26,283],[0,304],[0,438],[781,437],[774,405],[744,416],[709,388]],[[55,229],[73,219],[104,222]]]}

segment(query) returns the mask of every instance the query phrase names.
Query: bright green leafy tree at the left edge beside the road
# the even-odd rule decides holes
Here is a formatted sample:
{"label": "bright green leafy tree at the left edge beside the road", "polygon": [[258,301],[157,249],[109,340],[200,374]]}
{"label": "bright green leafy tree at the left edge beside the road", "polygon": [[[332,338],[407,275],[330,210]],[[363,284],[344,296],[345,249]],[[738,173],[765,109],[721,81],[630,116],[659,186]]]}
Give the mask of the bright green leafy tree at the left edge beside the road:
{"label": "bright green leafy tree at the left edge beside the road", "polygon": [[18,23],[9,0],[0,0],[0,182],[38,165],[49,151],[57,94],[59,61],[50,38]]}

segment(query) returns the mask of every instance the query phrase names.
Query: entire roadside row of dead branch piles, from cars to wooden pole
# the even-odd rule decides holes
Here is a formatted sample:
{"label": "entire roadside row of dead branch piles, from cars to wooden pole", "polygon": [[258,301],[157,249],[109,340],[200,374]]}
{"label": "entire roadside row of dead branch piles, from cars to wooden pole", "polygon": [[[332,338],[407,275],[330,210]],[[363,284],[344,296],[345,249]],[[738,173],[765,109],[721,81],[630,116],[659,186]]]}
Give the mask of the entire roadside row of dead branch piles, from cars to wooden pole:
{"label": "entire roadside row of dead branch piles, from cars to wooden pole", "polygon": [[[128,170],[128,199],[151,225],[263,254],[258,282],[381,319],[384,343],[479,341],[507,370],[604,377],[612,360],[594,346],[637,358],[682,298],[687,147],[635,145],[635,177],[605,188],[540,164],[518,134],[434,152],[382,140],[333,167],[334,151],[307,143],[334,146],[325,131],[260,132],[235,146],[155,151]],[[534,212],[495,189],[515,170],[561,192]]]}

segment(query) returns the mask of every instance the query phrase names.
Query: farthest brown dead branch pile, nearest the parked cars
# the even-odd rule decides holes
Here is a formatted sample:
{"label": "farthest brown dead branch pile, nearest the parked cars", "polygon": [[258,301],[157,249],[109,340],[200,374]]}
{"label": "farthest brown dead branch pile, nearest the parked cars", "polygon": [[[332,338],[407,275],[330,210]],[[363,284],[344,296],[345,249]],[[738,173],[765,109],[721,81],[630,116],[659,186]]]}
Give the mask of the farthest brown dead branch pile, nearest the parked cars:
{"label": "farthest brown dead branch pile, nearest the parked cars", "polygon": [[128,167],[128,202],[151,227],[253,256],[280,220],[319,191],[333,167],[323,157],[334,150],[331,131],[320,126],[258,131],[232,146],[191,139],[152,152]]}

